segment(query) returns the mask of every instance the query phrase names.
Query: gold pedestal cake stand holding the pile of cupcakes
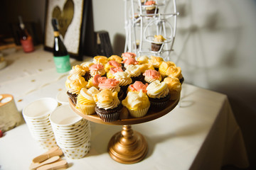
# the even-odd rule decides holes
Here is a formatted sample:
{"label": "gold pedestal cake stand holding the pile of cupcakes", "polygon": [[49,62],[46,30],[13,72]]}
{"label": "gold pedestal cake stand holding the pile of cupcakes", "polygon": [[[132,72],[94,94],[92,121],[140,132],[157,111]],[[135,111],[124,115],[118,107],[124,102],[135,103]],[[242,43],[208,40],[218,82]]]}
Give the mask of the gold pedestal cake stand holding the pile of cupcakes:
{"label": "gold pedestal cake stand holding the pile of cupcakes", "polygon": [[166,105],[166,108],[161,111],[153,111],[152,109],[149,109],[148,113],[142,118],[132,118],[127,115],[127,118],[110,123],[104,122],[96,113],[93,115],[82,114],[77,108],[75,108],[75,105],[71,100],[69,102],[73,111],[82,116],[82,118],[95,123],[122,125],[122,131],[117,132],[112,136],[107,149],[110,157],[112,157],[112,159],[115,161],[122,164],[134,164],[144,159],[148,151],[148,145],[142,134],[132,130],[132,125],[145,123],[166,115],[176,107],[178,101],[179,98],[175,101],[169,101],[169,103]]}

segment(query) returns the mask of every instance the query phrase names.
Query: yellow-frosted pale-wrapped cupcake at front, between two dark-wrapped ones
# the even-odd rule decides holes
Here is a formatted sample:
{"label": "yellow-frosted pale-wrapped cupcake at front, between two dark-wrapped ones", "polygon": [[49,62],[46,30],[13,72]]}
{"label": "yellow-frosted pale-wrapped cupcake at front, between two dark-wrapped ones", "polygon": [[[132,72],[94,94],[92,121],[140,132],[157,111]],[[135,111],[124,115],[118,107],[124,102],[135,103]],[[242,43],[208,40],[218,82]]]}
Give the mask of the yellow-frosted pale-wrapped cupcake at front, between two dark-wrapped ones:
{"label": "yellow-frosted pale-wrapped cupcake at front, between two dark-wrapped ones", "polygon": [[129,91],[127,97],[122,101],[122,105],[128,109],[129,115],[132,117],[142,118],[149,111],[150,102],[142,90],[139,93]]}

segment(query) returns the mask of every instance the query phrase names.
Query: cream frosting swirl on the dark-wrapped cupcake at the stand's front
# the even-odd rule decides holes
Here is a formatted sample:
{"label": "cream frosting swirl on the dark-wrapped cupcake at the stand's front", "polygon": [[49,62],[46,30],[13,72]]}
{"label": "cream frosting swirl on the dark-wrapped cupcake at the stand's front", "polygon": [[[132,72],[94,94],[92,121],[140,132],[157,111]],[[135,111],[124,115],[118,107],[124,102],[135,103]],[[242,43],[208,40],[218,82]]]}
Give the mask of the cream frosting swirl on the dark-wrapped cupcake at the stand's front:
{"label": "cream frosting swirl on the dark-wrapped cupcake at the stand's front", "polygon": [[93,98],[96,102],[96,106],[98,108],[104,108],[105,110],[117,108],[120,103],[117,97],[117,91],[112,93],[109,89],[103,89],[99,94],[95,94]]}

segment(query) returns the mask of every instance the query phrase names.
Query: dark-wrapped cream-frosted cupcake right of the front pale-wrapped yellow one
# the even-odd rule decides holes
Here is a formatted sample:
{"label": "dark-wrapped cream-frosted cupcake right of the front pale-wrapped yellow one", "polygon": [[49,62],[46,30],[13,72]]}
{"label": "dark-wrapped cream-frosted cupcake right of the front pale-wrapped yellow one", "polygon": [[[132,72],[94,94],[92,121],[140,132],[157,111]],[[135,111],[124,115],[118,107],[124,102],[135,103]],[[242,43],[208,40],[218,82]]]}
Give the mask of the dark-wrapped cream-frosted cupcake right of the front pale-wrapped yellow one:
{"label": "dark-wrapped cream-frosted cupcake right of the front pale-wrapped yellow one", "polygon": [[169,102],[170,94],[167,84],[159,80],[151,82],[146,87],[146,94],[149,96],[149,101],[153,109],[163,109]]}

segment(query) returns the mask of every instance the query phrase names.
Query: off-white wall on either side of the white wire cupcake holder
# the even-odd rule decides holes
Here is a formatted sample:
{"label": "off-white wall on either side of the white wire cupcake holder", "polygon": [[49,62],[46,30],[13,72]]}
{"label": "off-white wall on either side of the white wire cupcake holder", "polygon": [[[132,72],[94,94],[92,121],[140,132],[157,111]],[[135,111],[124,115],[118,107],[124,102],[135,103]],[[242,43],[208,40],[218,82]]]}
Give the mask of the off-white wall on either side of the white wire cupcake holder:
{"label": "off-white wall on either side of the white wire cupcake holder", "polygon": [[[124,32],[124,1],[93,0],[95,31],[107,30],[112,46]],[[256,139],[256,1],[178,0],[171,59],[185,82],[227,94],[248,154]],[[114,47],[114,52],[120,52]],[[254,155],[255,156],[255,155]],[[255,159],[254,159],[255,161]]]}

